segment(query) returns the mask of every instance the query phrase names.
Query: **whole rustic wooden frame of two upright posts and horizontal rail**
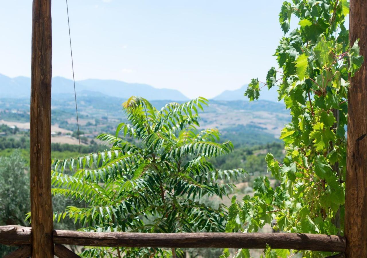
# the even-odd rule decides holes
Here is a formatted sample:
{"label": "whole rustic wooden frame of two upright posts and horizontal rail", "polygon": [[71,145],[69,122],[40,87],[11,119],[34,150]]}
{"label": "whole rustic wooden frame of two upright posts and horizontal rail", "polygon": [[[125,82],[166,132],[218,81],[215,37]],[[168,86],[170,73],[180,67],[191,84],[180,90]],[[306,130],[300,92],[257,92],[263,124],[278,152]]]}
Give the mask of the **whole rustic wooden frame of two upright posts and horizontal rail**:
{"label": "whole rustic wooden frame of two upright posts and horizontal rail", "polygon": [[[350,0],[350,42],[367,57],[367,1]],[[96,233],[54,230],[51,201],[51,0],[33,0],[30,105],[32,228],[0,226],[0,243],[21,246],[6,257],[78,257],[63,244],[110,247],[286,248],[367,257],[367,62],[350,80],[345,237],[305,233]]]}

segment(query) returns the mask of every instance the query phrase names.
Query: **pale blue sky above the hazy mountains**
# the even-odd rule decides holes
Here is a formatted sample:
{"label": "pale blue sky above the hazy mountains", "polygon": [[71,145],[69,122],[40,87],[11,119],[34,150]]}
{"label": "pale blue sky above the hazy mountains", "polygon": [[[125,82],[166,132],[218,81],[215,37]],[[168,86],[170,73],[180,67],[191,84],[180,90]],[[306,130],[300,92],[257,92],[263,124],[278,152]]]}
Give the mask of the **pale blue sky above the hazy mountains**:
{"label": "pale blue sky above the hazy mountains", "polygon": [[[76,80],[116,79],[193,98],[276,65],[283,0],[69,0]],[[30,76],[32,1],[2,1],[0,73]],[[72,78],[65,0],[52,1],[53,76]]]}

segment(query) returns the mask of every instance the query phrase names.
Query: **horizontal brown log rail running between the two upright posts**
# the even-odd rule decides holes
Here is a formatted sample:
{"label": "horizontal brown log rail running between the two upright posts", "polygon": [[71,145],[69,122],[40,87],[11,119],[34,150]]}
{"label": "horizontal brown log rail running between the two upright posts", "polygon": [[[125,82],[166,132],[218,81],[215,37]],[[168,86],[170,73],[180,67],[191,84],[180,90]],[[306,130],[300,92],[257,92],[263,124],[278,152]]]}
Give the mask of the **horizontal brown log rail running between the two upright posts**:
{"label": "horizontal brown log rail running between the two upright posts", "polygon": [[[30,243],[30,228],[26,233],[19,234],[13,230],[3,237],[4,231],[1,229],[4,227],[9,226],[0,226],[0,243]],[[25,234],[29,234],[28,238]],[[269,244],[272,248],[330,252],[344,252],[346,246],[343,236],[306,233],[99,233],[54,230],[53,241],[55,244],[77,246],[167,248],[265,248]]]}

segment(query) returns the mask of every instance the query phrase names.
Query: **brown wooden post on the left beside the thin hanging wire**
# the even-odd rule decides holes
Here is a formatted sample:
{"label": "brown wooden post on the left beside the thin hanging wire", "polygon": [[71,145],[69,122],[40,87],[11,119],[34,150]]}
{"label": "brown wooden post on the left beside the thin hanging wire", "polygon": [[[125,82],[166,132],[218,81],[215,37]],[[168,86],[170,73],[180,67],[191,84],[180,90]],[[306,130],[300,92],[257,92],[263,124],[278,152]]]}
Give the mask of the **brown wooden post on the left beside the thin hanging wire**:
{"label": "brown wooden post on the left beside the thin hanging wire", "polygon": [[30,98],[32,258],[54,257],[51,200],[51,0],[33,0]]}

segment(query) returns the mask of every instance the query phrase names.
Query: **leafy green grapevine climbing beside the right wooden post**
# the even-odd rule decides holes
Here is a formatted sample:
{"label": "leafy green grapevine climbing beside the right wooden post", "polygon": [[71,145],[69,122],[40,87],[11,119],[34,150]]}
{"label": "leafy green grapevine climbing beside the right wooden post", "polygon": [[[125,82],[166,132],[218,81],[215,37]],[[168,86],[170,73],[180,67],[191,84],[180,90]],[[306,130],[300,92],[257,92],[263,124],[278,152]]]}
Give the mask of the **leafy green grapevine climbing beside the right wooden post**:
{"label": "leafy green grapevine climbing beside the right wooden post", "polygon": [[[285,232],[343,234],[348,76],[361,66],[358,42],[348,40],[346,0],[293,0],[281,7],[285,36],[266,82],[252,79],[245,93],[258,99],[260,88],[277,87],[292,120],[281,131],[283,162],[268,154],[268,170],[279,179],[274,188],[267,177],[254,181],[254,197],[232,200],[226,230],[256,232],[276,220]],[[298,18],[290,29],[291,18]],[[261,85],[260,85],[261,84]],[[286,257],[287,250],[266,250],[267,257]],[[228,251],[225,252],[228,255]],[[248,250],[238,255],[248,257]],[[305,257],[326,253],[304,251]]]}

